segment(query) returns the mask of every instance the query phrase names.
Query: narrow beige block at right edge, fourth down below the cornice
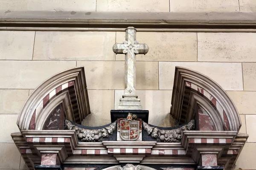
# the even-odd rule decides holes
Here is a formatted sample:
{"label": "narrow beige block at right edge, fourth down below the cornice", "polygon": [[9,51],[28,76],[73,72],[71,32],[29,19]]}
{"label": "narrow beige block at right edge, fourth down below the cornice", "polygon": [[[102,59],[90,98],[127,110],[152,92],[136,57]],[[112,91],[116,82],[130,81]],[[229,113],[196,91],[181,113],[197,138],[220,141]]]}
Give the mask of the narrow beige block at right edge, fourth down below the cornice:
{"label": "narrow beige block at right edge, fourth down below the cornice", "polygon": [[247,139],[247,142],[256,142],[256,114],[254,115],[245,115],[246,120],[246,130],[247,134],[249,135],[249,138]]}

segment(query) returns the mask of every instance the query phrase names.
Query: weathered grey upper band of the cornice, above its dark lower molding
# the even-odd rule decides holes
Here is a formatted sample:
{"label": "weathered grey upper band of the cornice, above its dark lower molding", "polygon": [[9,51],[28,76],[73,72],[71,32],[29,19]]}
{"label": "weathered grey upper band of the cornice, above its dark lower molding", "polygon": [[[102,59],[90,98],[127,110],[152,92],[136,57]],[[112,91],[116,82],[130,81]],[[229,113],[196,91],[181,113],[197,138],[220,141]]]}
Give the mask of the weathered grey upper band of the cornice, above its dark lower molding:
{"label": "weathered grey upper band of the cornice, above its dark lower molding", "polygon": [[[245,12],[76,12],[70,11],[0,11],[0,23],[27,24],[256,24],[256,13]],[[49,23],[50,22],[50,23]],[[138,28],[138,26],[137,26]]]}

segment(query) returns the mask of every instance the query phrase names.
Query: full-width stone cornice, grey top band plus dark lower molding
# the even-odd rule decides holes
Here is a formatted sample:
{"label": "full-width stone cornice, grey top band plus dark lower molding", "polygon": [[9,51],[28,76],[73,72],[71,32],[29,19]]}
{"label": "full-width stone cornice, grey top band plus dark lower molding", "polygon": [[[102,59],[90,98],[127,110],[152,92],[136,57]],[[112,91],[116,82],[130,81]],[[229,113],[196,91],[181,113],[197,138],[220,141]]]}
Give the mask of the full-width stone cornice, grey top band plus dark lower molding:
{"label": "full-width stone cornice, grey top band plus dark lower molding", "polygon": [[256,31],[256,13],[0,11],[0,30],[52,31]]}

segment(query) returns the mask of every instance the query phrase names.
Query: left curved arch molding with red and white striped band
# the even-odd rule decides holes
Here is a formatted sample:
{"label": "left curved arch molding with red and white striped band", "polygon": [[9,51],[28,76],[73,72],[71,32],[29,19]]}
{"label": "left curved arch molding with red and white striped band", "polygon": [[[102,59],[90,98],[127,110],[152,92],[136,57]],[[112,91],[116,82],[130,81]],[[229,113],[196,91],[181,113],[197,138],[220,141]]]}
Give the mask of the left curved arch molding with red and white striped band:
{"label": "left curved arch molding with red and white striped band", "polygon": [[67,119],[81,123],[90,114],[84,67],[55,74],[26,100],[17,125],[20,130],[42,130],[49,114],[59,106]]}

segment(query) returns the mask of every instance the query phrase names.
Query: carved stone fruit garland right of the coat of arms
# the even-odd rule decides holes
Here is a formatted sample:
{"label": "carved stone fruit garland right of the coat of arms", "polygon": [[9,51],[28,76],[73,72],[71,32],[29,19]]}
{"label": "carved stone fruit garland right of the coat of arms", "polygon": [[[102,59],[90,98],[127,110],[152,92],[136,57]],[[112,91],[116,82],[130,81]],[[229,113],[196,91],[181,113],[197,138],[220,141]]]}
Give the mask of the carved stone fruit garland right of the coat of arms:
{"label": "carved stone fruit garland right of the coat of arms", "polygon": [[180,142],[184,130],[192,130],[195,128],[195,120],[191,120],[188,124],[172,130],[161,130],[157,127],[151,127],[144,121],[142,122],[143,129],[147,131],[148,135],[160,142]]}

